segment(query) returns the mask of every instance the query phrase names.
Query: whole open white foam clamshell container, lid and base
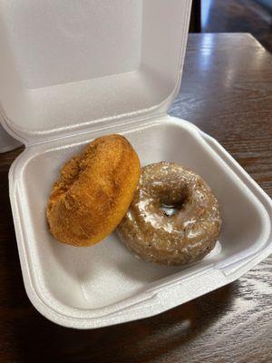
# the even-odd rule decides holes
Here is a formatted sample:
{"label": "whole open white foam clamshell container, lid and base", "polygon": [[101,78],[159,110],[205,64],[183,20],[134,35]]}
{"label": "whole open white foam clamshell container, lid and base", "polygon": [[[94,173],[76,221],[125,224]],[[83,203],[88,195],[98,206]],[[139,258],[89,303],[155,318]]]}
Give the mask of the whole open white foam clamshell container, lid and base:
{"label": "whole open white foam clamshell container, lid and base", "polygon": [[[189,9],[189,0],[0,3],[1,112],[26,146],[9,175],[24,285],[58,324],[90,329],[158,314],[238,279],[272,251],[266,193],[218,142],[167,115]],[[60,167],[113,132],[129,139],[142,165],[180,162],[209,182],[223,226],[204,260],[155,265],[114,233],[90,248],[53,240],[45,207]]]}

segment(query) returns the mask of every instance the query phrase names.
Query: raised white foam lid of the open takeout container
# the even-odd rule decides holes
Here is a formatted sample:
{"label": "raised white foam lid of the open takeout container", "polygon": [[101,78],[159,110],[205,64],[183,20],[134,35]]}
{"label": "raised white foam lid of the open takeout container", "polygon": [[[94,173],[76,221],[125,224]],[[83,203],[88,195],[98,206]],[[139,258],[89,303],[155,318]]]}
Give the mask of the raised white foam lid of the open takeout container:
{"label": "raised white foam lid of the open takeout container", "polygon": [[166,113],[180,86],[190,2],[1,2],[5,129],[40,142]]}

